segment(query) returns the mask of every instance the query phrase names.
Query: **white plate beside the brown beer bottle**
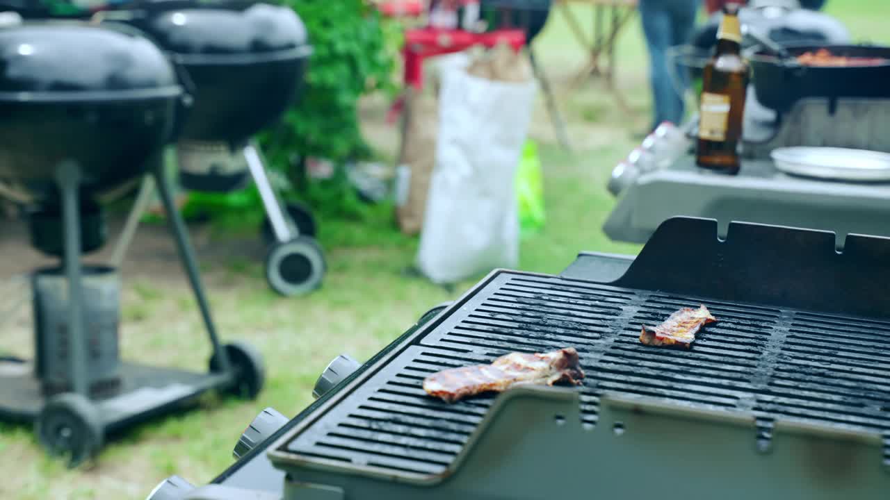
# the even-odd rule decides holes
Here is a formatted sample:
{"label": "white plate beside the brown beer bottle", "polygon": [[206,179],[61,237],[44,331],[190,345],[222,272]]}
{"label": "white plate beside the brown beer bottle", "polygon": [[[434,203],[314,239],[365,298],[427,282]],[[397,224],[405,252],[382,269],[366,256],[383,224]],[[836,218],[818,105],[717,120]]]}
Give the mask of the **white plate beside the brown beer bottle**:
{"label": "white plate beside the brown beer bottle", "polygon": [[778,148],[770,153],[785,173],[840,181],[890,181],[890,154],[868,149]]}

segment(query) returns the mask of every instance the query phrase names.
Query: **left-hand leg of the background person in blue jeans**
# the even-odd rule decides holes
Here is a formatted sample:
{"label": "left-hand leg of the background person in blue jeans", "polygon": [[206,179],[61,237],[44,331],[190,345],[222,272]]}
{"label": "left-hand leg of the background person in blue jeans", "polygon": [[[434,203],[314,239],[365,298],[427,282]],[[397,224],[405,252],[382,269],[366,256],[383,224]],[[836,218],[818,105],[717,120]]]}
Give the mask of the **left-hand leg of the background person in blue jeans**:
{"label": "left-hand leg of the background person in blue jeans", "polygon": [[682,104],[667,73],[666,50],[671,43],[672,32],[670,12],[665,8],[664,0],[640,0],[638,8],[649,49],[649,80],[654,109],[652,128],[666,120],[678,123],[682,117]]}

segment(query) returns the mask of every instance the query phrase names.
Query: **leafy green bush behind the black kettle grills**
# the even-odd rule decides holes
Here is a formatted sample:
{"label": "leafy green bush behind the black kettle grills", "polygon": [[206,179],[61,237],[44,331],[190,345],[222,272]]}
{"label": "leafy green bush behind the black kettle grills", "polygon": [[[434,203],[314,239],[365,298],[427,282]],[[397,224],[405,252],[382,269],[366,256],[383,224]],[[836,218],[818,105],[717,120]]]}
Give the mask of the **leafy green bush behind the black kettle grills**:
{"label": "leafy green bush behind the black kettle grills", "polygon": [[[303,93],[281,122],[259,135],[267,166],[286,173],[293,188],[283,198],[302,199],[317,214],[363,218],[360,202],[340,168],[333,179],[305,182],[301,157],[322,157],[343,165],[368,159],[373,151],[361,136],[358,102],[364,93],[393,95],[394,56],[401,46],[401,27],[382,19],[363,0],[279,0],[295,10],[309,33],[312,58]],[[186,212],[212,214],[225,224],[228,212],[237,221],[262,217],[254,187],[243,193],[192,193]],[[255,215],[245,218],[244,214]],[[237,224],[236,224],[237,225]]]}

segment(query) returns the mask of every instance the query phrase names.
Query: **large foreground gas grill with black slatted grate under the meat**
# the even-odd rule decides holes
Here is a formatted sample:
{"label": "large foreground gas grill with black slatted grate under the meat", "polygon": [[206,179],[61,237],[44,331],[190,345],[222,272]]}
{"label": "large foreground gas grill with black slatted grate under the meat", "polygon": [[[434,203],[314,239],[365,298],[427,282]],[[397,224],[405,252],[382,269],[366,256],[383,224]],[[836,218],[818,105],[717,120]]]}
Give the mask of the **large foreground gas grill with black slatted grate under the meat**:
{"label": "large foreground gas grill with black slatted grate under the meat", "polygon": [[[716,221],[674,218],[635,258],[496,270],[354,371],[337,359],[290,422],[260,415],[211,484],[174,476],[149,498],[886,498],[888,261],[888,238],[837,252],[825,231],[733,222],[719,239]],[[641,325],[700,303],[718,322],[691,350],[639,343]],[[449,405],[421,388],[567,346],[577,389]]]}

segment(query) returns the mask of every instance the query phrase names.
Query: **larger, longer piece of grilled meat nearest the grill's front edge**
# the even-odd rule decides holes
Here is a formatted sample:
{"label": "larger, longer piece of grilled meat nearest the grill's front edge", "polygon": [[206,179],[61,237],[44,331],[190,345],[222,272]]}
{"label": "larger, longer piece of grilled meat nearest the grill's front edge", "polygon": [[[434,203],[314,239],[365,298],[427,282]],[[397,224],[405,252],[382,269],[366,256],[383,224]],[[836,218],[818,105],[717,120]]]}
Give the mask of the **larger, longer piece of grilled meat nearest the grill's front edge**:
{"label": "larger, longer piece of grilled meat nearest the grill's front edge", "polygon": [[584,372],[578,364],[578,351],[569,347],[543,354],[511,352],[490,365],[442,370],[424,379],[424,391],[430,396],[453,403],[481,392],[506,391],[517,383],[568,382],[578,385]]}

